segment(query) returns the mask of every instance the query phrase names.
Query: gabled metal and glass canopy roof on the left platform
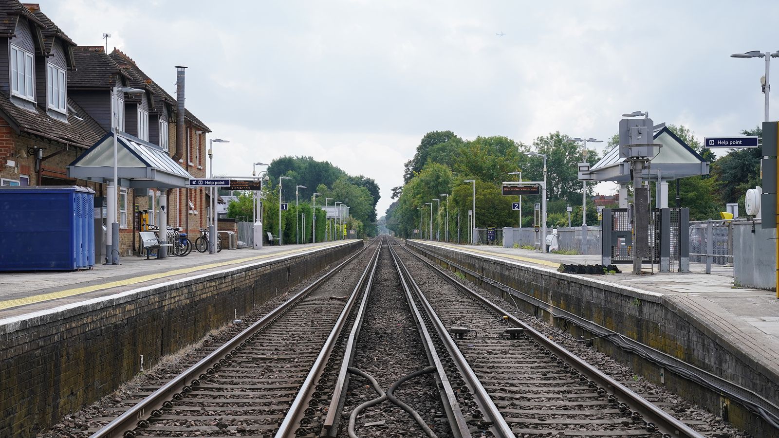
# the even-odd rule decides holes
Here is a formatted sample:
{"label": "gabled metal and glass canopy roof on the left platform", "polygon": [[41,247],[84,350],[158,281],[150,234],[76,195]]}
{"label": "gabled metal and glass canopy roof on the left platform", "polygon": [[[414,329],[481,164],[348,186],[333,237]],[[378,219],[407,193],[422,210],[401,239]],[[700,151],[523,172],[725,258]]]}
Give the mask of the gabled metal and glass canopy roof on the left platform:
{"label": "gabled metal and glass canopy roof on the left platform", "polygon": [[[132,189],[177,189],[189,183],[189,172],[156,145],[118,132],[119,185]],[[114,178],[114,134],[108,132],[68,166],[71,178],[105,182]]]}

